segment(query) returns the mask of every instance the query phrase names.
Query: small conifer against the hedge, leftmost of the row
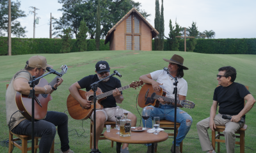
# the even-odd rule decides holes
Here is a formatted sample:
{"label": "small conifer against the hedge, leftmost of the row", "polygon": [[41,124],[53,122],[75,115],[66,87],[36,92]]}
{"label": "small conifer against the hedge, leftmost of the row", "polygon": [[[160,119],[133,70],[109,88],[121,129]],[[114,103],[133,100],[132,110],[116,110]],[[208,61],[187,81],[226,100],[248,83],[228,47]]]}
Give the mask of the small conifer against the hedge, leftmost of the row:
{"label": "small conifer against the hedge, leftmost of the row", "polygon": [[60,50],[61,53],[68,53],[71,50],[71,38],[72,38],[72,29],[68,27],[67,29],[63,29],[64,35],[62,38],[62,48]]}

